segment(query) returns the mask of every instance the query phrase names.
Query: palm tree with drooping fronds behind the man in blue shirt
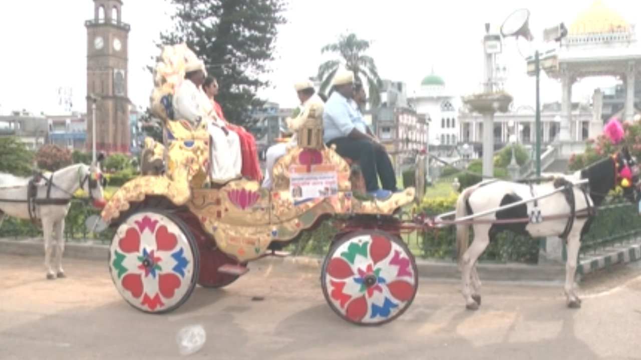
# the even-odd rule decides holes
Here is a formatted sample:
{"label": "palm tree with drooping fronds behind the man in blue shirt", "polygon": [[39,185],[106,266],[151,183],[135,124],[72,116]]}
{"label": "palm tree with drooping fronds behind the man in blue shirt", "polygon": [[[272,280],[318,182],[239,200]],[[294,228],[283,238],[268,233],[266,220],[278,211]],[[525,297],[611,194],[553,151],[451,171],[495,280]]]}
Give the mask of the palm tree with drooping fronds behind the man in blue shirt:
{"label": "palm tree with drooping fronds behind the man in blue shirt", "polygon": [[[317,78],[321,81],[320,92],[326,94],[331,85],[331,79],[334,78],[338,68],[343,65],[346,69],[354,72],[354,78],[361,81],[361,78],[367,79],[369,88],[369,102],[372,106],[377,106],[381,101],[380,85],[381,78],[378,76],[374,59],[365,55],[371,42],[356,37],[356,34],[341,35],[338,42],[325,45],[320,49],[320,53],[338,53],[340,60],[329,60],[320,64]],[[363,83],[364,85],[364,83]]]}

